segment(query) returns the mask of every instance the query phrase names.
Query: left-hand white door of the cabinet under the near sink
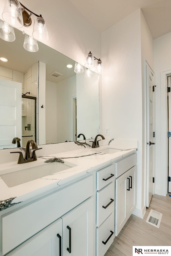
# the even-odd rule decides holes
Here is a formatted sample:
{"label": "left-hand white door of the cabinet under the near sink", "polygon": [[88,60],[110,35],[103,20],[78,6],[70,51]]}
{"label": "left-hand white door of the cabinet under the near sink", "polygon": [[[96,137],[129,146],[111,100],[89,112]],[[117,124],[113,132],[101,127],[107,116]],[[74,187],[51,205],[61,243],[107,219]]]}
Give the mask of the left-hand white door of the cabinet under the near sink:
{"label": "left-hand white door of the cabinet under the near sink", "polygon": [[34,235],[8,256],[62,256],[62,219]]}

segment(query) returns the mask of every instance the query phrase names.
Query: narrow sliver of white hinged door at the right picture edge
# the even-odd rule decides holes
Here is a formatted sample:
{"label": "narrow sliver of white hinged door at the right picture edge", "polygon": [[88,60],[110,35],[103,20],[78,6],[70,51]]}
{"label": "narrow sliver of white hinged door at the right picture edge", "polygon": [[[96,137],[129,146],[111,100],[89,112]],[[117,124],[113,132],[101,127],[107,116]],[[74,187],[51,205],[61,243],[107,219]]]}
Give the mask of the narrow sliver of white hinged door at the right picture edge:
{"label": "narrow sliver of white hinged door at the right picture edge", "polygon": [[[171,88],[171,77],[168,76],[168,87]],[[168,132],[171,132],[171,92],[168,93]],[[171,177],[171,137],[168,137],[168,176]],[[171,193],[171,182],[168,182],[168,192]]]}

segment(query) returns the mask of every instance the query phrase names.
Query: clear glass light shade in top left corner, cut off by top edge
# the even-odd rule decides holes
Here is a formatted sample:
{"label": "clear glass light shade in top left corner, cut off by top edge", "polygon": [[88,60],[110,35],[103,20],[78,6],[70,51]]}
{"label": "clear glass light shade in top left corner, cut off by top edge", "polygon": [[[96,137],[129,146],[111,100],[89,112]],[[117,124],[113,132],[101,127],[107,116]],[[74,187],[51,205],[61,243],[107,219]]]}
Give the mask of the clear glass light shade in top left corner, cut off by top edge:
{"label": "clear glass light shade in top left corner, cut off by top edge", "polygon": [[15,28],[22,28],[23,18],[21,5],[18,0],[5,0],[2,18]]}

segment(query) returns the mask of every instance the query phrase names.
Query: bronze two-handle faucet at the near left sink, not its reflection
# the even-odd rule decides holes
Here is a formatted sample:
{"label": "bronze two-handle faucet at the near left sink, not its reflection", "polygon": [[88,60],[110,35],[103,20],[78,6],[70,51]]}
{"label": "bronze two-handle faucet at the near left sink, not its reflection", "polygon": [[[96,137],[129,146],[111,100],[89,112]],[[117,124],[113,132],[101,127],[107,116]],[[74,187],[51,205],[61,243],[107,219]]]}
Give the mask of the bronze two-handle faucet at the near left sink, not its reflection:
{"label": "bronze two-handle faucet at the near left sink, not its reflection", "polygon": [[[33,149],[31,157],[30,157],[30,143],[31,143],[32,149]],[[30,139],[27,142],[26,151],[25,151],[25,156],[24,157],[23,157],[22,152],[19,152],[19,151],[17,151],[17,152],[10,152],[10,153],[19,153],[20,156],[18,158],[18,163],[17,164],[25,164],[25,163],[29,163],[29,162],[33,162],[33,161],[37,160],[35,151],[38,150],[38,149],[42,149],[42,148],[38,148],[36,142],[33,141],[33,139]]]}

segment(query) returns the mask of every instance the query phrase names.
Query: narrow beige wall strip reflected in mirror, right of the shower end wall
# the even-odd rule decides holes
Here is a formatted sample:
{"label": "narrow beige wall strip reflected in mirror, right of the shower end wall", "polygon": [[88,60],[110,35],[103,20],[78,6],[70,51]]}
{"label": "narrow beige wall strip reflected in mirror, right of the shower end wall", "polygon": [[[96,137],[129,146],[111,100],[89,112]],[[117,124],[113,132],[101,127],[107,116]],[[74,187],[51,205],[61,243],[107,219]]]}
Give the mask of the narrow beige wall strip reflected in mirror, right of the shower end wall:
{"label": "narrow beige wall strip reflected in mirror, right of the shower end wall", "polygon": [[57,143],[57,84],[46,80],[46,144]]}

